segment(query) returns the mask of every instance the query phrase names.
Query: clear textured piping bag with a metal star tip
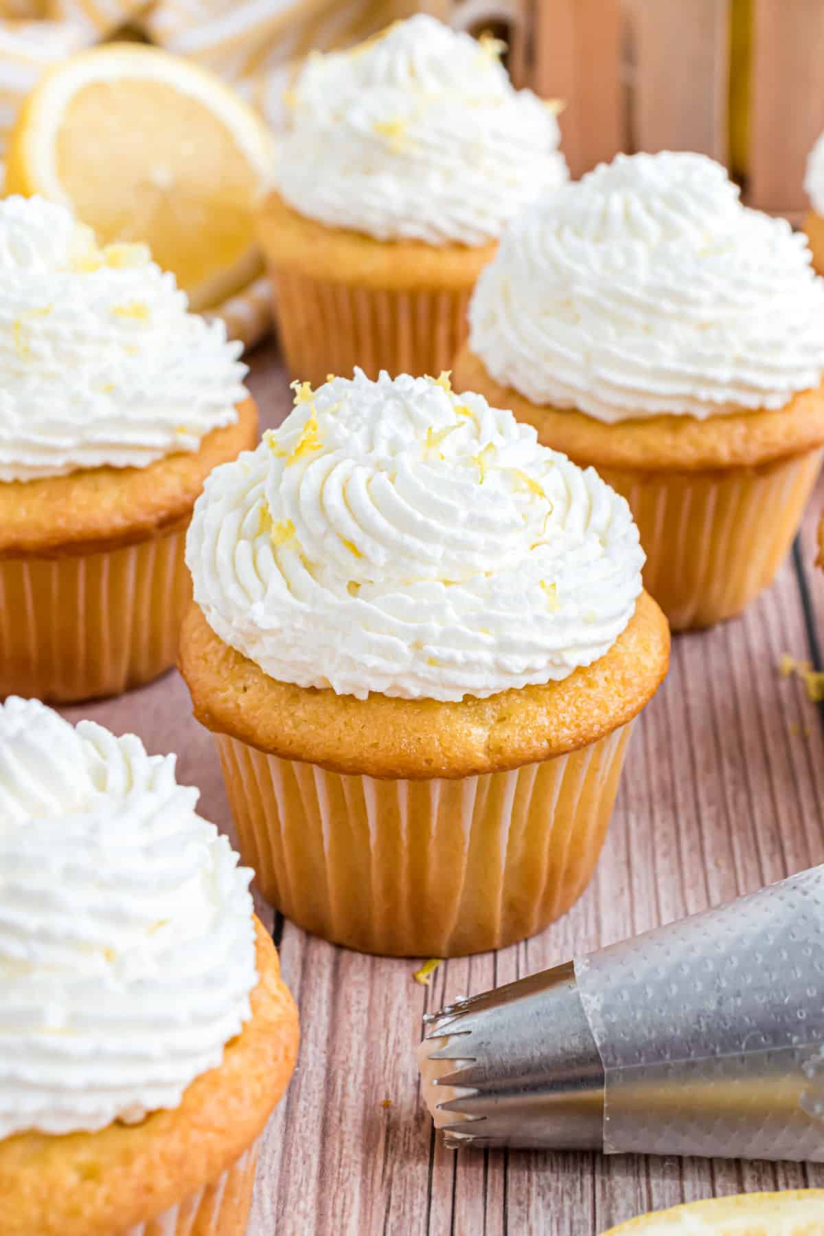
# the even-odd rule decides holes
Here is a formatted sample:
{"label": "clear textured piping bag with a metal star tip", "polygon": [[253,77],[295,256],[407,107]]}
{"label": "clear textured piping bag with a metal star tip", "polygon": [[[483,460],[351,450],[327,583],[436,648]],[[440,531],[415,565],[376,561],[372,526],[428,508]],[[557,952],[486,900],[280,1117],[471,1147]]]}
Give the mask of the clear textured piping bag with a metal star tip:
{"label": "clear textured piping bag with a metal star tip", "polygon": [[452,1148],[824,1162],[824,865],[426,1022]]}

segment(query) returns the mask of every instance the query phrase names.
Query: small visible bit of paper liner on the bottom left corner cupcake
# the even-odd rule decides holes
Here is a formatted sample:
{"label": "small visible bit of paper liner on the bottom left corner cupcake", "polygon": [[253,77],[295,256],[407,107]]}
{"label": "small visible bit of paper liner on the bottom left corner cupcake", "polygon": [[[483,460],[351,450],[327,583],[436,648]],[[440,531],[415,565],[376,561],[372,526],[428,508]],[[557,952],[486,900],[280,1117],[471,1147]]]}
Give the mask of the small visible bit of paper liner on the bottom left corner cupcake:
{"label": "small visible bit of paper liner on the bottom left corner cupcake", "polygon": [[246,1236],[257,1149],[254,1142],[211,1184],[117,1236]]}

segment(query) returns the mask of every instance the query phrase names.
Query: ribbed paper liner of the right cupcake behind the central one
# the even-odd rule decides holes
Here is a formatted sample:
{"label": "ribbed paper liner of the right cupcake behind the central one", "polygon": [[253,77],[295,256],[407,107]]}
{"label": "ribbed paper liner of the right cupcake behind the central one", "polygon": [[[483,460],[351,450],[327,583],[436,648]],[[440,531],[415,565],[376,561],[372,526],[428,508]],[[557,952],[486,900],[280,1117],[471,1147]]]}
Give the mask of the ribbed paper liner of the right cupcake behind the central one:
{"label": "ribbed paper liner of the right cupcake behind the central one", "polygon": [[822,454],[718,472],[599,468],[633,508],[646,551],[644,586],[673,630],[731,618],[772,583]]}

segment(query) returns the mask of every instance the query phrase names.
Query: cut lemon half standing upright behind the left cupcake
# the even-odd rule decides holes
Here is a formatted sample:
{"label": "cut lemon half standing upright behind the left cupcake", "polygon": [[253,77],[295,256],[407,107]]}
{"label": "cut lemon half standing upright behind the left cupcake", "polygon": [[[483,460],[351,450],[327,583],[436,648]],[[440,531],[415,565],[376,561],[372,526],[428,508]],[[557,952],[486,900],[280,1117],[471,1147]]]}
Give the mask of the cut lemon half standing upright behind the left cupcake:
{"label": "cut lemon half standing upright behind the left cupcake", "polygon": [[266,125],[217,77],[107,43],[51,69],[27,98],[6,193],[70,206],[101,245],[145,241],[205,309],[259,269],[253,213],[272,163]]}

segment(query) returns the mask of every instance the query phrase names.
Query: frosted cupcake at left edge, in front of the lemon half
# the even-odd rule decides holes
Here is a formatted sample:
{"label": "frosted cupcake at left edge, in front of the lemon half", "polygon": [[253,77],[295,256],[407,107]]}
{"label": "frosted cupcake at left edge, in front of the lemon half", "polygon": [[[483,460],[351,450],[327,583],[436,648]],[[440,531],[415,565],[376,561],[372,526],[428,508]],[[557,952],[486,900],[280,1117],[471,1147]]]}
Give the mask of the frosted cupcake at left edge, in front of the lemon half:
{"label": "frosted cupcake at left edge, in front of the lemon half", "polygon": [[174,664],[195,498],[257,438],[241,345],[42,199],[0,203],[0,698],[112,695]]}

